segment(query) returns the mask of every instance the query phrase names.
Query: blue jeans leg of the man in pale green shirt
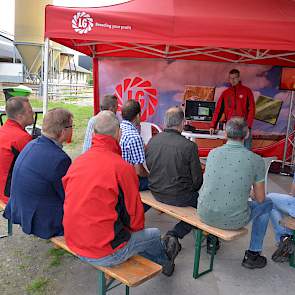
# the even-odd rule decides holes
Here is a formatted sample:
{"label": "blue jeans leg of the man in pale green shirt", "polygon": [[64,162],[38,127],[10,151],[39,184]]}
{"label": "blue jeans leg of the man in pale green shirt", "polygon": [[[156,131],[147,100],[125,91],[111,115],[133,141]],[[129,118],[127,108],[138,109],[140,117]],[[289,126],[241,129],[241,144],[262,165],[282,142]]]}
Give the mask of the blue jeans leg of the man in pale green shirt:
{"label": "blue jeans leg of the man in pale green shirt", "polygon": [[267,230],[267,225],[272,209],[272,201],[265,198],[263,203],[249,201],[251,210],[250,220],[252,220],[252,232],[249,250],[255,252],[262,251],[263,239]]}

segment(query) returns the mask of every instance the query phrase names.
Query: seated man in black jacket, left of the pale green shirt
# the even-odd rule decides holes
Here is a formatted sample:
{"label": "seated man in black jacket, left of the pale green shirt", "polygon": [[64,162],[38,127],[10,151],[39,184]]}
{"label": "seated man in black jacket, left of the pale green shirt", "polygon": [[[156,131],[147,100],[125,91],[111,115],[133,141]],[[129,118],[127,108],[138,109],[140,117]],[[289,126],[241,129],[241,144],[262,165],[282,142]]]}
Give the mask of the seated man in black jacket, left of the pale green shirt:
{"label": "seated man in black jacket, left of the pale green shirt", "polygon": [[[154,136],[146,148],[150,190],[158,201],[165,204],[197,208],[203,175],[197,145],[181,135],[184,124],[182,109],[170,108],[165,114],[164,124],[164,132]],[[190,224],[180,221],[166,237],[182,239],[191,229]]]}

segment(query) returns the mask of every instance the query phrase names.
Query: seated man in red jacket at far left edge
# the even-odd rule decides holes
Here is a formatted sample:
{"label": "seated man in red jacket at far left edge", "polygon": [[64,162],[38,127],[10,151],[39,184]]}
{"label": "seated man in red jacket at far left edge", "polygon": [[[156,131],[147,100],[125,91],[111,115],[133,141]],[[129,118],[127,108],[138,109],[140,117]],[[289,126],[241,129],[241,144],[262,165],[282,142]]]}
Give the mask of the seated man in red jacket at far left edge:
{"label": "seated man in red jacket at far left edge", "polygon": [[0,128],[0,200],[8,202],[16,158],[32,137],[25,127],[33,124],[34,112],[26,97],[11,97],[5,106],[8,117]]}

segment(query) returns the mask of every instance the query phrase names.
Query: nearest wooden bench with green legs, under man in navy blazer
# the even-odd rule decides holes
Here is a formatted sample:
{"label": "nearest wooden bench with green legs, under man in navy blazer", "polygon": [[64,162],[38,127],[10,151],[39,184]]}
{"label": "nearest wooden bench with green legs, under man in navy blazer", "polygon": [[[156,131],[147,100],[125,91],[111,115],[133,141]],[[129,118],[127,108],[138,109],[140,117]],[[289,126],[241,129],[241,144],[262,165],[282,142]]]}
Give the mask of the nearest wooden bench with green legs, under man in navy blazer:
{"label": "nearest wooden bench with green legs, under man in navy blazer", "polygon": [[[53,237],[50,240],[58,247],[63,248],[74,256],[77,256],[67,247],[64,237]],[[98,271],[99,295],[105,295],[107,291],[121,284],[125,285],[125,294],[128,295],[129,287],[136,287],[162,271],[161,265],[154,263],[142,256],[133,256],[127,261],[113,267],[94,266],[92,264],[91,266],[93,266]],[[112,278],[110,282],[106,281],[105,274]],[[113,285],[115,280],[119,281],[120,283]]]}

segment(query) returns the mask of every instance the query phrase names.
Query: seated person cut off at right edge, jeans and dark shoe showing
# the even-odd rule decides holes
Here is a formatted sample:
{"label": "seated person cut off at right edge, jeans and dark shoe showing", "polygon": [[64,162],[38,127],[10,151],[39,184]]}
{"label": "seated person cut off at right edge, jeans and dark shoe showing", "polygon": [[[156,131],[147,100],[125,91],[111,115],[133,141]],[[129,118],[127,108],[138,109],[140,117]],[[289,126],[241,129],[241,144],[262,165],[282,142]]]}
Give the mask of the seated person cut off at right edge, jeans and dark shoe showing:
{"label": "seated person cut off at right edge, jeans and dark shoe showing", "polygon": [[273,253],[271,258],[275,262],[289,261],[289,254],[294,251],[292,231],[281,226],[280,220],[284,215],[290,215],[295,218],[295,174],[290,195],[270,193],[267,197],[269,197],[273,202],[270,220],[275,232],[275,239],[278,244],[278,248]]}

